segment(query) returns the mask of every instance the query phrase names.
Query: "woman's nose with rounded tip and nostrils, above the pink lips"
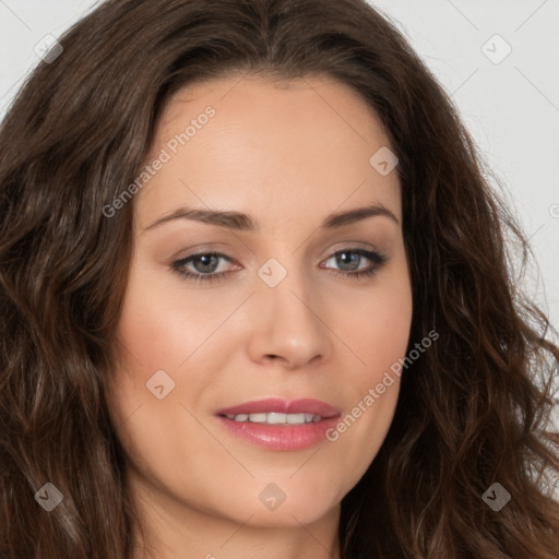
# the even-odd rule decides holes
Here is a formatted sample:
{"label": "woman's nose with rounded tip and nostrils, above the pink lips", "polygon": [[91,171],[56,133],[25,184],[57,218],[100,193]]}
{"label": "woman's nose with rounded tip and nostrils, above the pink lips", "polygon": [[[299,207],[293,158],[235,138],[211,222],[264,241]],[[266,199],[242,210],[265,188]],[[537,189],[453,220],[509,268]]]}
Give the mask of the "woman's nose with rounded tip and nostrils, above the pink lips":
{"label": "woman's nose with rounded tip and nostrils, above the pink lips", "polygon": [[254,362],[297,369],[331,357],[332,325],[320,294],[290,271],[275,287],[261,284],[253,297],[249,354]]}

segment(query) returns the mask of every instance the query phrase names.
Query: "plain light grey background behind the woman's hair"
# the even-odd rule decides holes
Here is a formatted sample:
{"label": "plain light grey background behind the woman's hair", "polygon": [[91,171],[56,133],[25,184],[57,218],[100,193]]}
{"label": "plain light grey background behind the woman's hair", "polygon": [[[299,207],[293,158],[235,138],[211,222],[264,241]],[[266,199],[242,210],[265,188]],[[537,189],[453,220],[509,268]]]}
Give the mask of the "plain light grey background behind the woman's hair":
{"label": "plain light grey background behind the woman's hair", "polygon": [[[0,0],[0,118],[39,61],[34,46],[47,34],[60,37],[97,3]],[[525,288],[557,328],[559,0],[370,3],[396,23],[452,94],[487,163],[503,182],[536,258]],[[510,55],[495,63],[508,48]],[[559,417],[556,424],[559,428]]]}

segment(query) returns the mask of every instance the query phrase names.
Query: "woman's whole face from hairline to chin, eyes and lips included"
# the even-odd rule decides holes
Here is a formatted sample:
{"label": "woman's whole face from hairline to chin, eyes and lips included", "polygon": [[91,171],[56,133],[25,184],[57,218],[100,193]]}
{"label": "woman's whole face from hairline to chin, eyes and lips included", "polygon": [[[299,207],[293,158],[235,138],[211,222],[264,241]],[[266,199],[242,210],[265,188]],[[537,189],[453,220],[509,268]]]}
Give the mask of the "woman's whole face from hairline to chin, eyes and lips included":
{"label": "woman's whole face from hairline to chin, eyes and lips included", "polygon": [[399,377],[376,388],[412,320],[389,145],[332,80],[171,99],[128,202],[109,402],[144,502],[260,526],[338,512],[389,429]]}

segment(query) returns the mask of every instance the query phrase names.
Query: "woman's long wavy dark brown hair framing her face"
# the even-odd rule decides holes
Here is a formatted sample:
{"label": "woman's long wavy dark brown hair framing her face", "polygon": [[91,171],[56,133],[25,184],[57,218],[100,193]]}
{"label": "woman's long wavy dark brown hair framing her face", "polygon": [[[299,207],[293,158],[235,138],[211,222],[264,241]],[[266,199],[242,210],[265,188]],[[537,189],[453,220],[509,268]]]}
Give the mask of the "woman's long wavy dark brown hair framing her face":
{"label": "woman's long wavy dark brown hair framing her face", "polygon": [[[342,501],[343,558],[557,559],[559,349],[514,275],[530,247],[396,28],[364,0],[109,0],[60,43],[0,129],[0,556],[130,559],[138,513],[105,395],[133,200],[103,209],[173,93],[248,73],[332,76],[379,116],[400,158],[409,348],[440,334]],[[46,483],[63,495],[51,512],[34,498]],[[493,483],[511,495],[498,512]]]}

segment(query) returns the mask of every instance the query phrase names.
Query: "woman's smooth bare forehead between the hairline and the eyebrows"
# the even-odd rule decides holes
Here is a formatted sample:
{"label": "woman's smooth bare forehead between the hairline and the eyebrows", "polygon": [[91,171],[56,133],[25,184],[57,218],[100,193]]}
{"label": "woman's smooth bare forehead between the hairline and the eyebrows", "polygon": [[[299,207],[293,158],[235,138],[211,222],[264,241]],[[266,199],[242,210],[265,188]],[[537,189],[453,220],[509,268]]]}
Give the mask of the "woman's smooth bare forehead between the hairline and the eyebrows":
{"label": "woman's smooth bare forehead between the hairline and the eyebrows", "polygon": [[296,218],[381,202],[400,218],[396,173],[383,177],[370,164],[388,145],[369,106],[332,79],[198,83],[162,114],[146,162],[163,153],[166,162],[141,189],[138,213],[145,223],[180,202],[261,214],[274,207]]}

